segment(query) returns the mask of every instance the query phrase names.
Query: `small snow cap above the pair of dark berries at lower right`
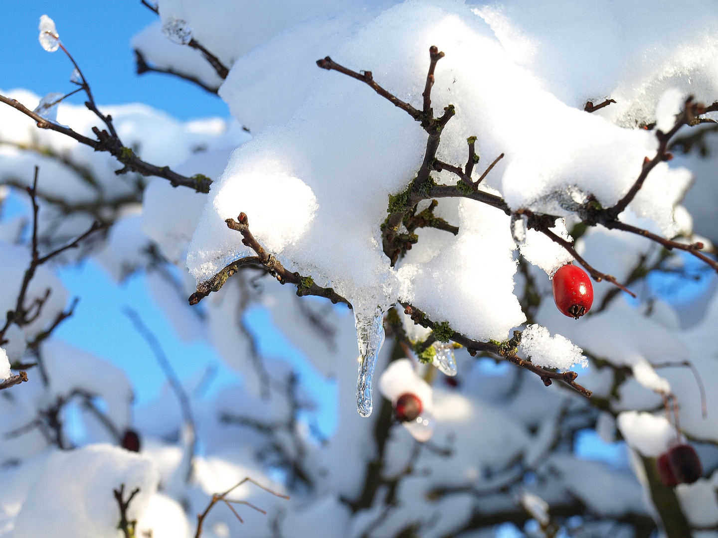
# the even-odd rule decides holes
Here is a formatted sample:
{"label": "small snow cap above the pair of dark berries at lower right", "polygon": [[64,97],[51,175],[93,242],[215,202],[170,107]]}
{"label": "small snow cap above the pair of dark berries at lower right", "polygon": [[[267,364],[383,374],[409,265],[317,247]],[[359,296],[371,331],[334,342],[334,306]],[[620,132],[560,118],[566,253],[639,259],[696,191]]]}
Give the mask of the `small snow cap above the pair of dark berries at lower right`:
{"label": "small snow cap above the pair of dark berries at lower right", "polygon": [[643,456],[657,458],[676,441],[676,428],[664,416],[624,411],[618,415],[617,423],[626,443]]}

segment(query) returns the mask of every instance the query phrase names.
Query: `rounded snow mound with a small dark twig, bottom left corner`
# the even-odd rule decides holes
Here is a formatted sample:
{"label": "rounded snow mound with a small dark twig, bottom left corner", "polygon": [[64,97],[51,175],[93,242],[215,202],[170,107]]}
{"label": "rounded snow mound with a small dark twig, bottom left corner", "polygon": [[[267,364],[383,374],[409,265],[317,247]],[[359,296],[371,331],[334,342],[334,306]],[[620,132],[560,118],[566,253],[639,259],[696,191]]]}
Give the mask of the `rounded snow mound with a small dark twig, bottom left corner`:
{"label": "rounded snow mound with a small dark twig, bottom left corner", "polygon": [[[135,488],[128,519],[139,519],[157,491],[151,461],[111,445],[90,445],[48,458],[17,514],[15,538],[116,538],[119,510],[113,489]],[[42,514],[42,517],[39,517]]]}

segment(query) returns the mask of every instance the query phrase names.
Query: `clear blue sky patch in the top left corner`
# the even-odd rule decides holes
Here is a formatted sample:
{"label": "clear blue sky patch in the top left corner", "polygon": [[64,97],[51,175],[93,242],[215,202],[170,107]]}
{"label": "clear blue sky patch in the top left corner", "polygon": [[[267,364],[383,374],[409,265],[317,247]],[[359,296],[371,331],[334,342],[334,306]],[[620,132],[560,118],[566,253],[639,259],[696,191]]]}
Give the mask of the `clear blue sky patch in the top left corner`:
{"label": "clear blue sky patch in the top left corner", "polygon": [[[98,103],[146,103],[187,120],[228,116],[228,108],[190,82],[157,73],[135,74],[130,40],[157,16],[139,0],[20,0],[0,16],[0,89],[38,95],[66,89],[72,66],[37,41],[39,17],[55,20],[65,46],[88,77]],[[73,98],[75,99],[73,101]],[[82,103],[80,96],[70,102]]]}

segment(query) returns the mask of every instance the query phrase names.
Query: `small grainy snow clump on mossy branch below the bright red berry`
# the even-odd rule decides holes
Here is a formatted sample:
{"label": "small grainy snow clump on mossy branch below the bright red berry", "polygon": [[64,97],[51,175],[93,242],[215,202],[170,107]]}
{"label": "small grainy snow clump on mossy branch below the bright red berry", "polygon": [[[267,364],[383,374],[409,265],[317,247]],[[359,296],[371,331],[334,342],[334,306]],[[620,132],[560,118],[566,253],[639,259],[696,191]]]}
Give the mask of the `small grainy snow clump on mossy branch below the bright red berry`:
{"label": "small grainy snow clump on mossy branch below the bright red berry", "polygon": [[519,348],[537,366],[570,369],[575,364],[588,366],[583,350],[560,334],[551,336],[549,329],[537,324],[529,325],[521,333]]}

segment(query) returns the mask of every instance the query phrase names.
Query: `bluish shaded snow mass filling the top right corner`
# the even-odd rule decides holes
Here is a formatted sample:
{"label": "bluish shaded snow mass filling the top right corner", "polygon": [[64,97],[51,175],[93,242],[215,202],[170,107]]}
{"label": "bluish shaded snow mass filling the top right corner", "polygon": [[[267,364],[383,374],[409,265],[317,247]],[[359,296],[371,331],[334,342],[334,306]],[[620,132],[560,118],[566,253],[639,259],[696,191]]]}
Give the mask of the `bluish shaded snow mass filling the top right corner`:
{"label": "bluish shaded snow mass filling the top right corner", "polygon": [[[665,90],[712,103],[718,71],[718,19],[709,0],[636,0],[595,4],[500,0],[476,10],[513,62],[567,105],[600,110],[628,126],[655,121]],[[701,13],[697,19],[686,13]]]}

